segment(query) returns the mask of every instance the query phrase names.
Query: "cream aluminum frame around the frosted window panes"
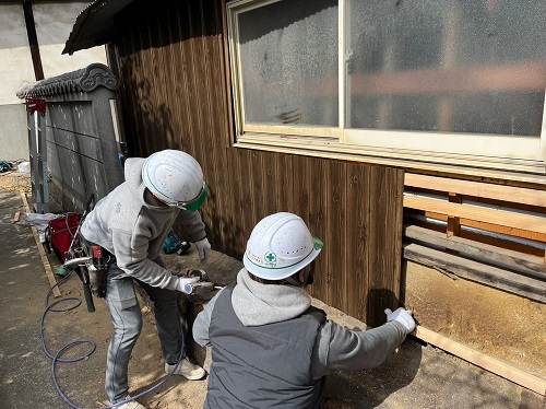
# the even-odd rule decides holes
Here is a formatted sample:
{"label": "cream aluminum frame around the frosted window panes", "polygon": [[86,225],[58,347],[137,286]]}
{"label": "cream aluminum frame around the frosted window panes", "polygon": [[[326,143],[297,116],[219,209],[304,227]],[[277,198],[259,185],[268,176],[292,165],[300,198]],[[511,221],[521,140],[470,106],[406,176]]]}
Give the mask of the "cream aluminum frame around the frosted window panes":
{"label": "cream aluminum frame around the frosted window panes", "polygon": [[[235,147],[289,151],[323,156],[323,147],[344,156],[361,156],[364,162],[381,162],[395,166],[419,168],[419,164],[475,166],[503,172],[523,172],[545,175],[546,159],[546,98],[543,107],[542,131],[538,137],[513,138],[509,135],[442,133],[431,131],[400,131],[345,128],[348,104],[346,74],[345,0],[339,0],[339,126],[248,124],[245,120],[245,101],[240,48],[238,45],[240,13],[284,0],[237,0],[227,3],[228,45],[235,115]],[[412,138],[408,138],[412,137]],[[442,137],[450,138],[450,147],[439,147]],[[410,142],[408,142],[410,141]],[[500,141],[500,143],[499,143]],[[302,147],[304,145],[304,147]],[[264,148],[266,147],[266,148]],[[462,152],[461,147],[478,148]],[[518,152],[518,154],[513,154]],[[376,159],[376,161],[373,160]],[[385,162],[387,161],[387,162]],[[428,167],[430,167],[427,165]]]}

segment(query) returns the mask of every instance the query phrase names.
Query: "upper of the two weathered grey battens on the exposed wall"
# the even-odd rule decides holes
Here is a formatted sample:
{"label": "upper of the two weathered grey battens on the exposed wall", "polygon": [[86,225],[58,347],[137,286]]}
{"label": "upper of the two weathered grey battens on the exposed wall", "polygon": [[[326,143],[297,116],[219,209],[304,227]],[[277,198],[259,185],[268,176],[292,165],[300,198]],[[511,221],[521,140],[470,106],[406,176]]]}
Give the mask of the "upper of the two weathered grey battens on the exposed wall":
{"label": "upper of the two weathered grey battens on the exposed wall", "polygon": [[459,252],[461,257],[468,257],[475,261],[484,261],[499,268],[510,269],[546,281],[546,267],[543,265],[542,259],[537,257],[502,249],[463,237],[448,237],[444,233],[416,225],[404,226],[404,237],[425,246],[432,245],[455,250]]}

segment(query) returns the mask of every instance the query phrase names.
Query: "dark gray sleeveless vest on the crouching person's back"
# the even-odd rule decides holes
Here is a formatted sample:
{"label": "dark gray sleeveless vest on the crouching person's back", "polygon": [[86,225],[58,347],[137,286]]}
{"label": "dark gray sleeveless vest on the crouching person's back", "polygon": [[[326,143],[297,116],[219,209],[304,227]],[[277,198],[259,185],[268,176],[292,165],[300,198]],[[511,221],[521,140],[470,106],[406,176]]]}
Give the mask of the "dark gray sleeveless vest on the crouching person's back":
{"label": "dark gray sleeveless vest on the crouching person's back", "polygon": [[312,379],[311,354],[325,313],[309,307],[293,319],[246,327],[232,305],[234,284],[211,316],[204,408],[323,408],[325,377]]}

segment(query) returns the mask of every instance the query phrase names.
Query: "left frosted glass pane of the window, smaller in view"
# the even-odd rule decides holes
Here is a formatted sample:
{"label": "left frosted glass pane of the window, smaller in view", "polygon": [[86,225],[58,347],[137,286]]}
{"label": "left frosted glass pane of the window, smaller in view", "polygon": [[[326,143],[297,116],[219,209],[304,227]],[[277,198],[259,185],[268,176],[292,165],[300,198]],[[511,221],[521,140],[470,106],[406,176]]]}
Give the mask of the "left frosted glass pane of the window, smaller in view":
{"label": "left frosted glass pane of the window, smaller in view", "polygon": [[337,1],[282,1],[239,14],[248,122],[337,126]]}

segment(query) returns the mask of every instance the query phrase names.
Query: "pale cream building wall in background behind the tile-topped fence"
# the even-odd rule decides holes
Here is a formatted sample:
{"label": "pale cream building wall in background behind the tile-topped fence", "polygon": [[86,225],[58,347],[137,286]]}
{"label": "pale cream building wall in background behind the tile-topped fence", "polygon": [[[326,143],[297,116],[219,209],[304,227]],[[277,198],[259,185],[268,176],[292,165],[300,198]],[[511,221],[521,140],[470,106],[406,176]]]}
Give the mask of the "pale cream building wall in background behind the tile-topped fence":
{"label": "pale cream building wall in background behind the tile-topped fence", "polygon": [[[104,47],[61,55],[78,14],[88,1],[33,1],[33,14],[45,78],[73,71],[92,62],[106,63]],[[28,157],[26,115],[16,107],[16,92],[36,81],[22,2],[0,3],[0,159]]]}

